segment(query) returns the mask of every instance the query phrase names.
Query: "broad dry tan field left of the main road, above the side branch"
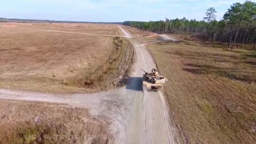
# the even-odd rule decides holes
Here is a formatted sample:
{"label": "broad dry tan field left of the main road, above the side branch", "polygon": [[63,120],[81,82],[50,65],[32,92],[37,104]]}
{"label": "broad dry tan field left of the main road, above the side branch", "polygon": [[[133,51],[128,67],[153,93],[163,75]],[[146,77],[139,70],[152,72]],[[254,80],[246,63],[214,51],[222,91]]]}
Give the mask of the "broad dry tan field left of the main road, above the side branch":
{"label": "broad dry tan field left of the main road, above the side branch", "polygon": [[[131,64],[132,46],[124,38],[22,28],[122,34],[117,25],[0,23],[0,87],[57,93],[98,92],[115,87]],[[122,60],[124,57],[127,61]],[[120,69],[123,73],[117,73]],[[116,75],[107,79],[109,73]]]}

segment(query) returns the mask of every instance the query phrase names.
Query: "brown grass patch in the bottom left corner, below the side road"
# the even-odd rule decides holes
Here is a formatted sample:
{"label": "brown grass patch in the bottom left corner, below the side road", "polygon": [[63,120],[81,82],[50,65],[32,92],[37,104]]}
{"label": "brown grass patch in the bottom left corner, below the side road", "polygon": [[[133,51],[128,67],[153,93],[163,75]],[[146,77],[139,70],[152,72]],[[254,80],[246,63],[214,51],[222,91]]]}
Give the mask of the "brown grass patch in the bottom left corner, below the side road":
{"label": "brown grass patch in the bottom left corner, below the side road", "polygon": [[56,104],[0,101],[0,143],[107,143],[109,123],[86,109]]}

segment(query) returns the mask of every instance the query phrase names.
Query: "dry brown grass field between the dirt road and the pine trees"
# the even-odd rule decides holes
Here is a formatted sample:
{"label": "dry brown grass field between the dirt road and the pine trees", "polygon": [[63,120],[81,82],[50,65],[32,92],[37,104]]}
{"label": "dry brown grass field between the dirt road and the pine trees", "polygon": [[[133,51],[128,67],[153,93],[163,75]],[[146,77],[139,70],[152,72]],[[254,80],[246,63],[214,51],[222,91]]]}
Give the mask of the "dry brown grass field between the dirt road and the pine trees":
{"label": "dry brown grass field between the dirt road and the pine trees", "polygon": [[156,40],[144,38],[169,79],[164,93],[183,142],[255,143],[256,51]]}

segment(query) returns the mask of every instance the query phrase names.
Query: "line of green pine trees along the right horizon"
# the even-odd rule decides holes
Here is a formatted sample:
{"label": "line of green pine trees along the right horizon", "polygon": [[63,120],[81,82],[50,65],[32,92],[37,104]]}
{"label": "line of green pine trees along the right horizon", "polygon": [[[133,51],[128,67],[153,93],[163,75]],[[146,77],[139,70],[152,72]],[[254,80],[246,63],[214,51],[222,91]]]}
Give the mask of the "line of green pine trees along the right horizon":
{"label": "line of green pine trees along the right horizon", "polygon": [[123,25],[137,27],[155,33],[172,34],[185,39],[202,39],[204,42],[220,42],[234,47],[256,43],[256,3],[234,3],[220,21],[215,20],[215,9],[207,9],[202,21],[167,19],[161,21],[125,21]]}

